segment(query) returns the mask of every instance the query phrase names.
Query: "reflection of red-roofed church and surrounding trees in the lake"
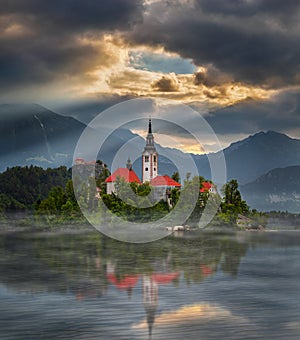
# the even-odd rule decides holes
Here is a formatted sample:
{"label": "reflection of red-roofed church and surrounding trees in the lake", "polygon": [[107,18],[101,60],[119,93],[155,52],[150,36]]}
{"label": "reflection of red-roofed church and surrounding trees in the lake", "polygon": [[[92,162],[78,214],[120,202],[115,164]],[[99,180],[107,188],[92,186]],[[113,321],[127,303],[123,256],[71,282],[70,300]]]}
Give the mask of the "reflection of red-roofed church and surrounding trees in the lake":
{"label": "reflection of red-roofed church and surrounding trees in the lake", "polygon": [[[232,236],[203,234],[195,239],[167,238],[145,246],[117,242],[94,233],[72,237],[36,235],[32,240],[18,233],[0,235],[3,245],[0,271],[5,273],[0,282],[17,292],[71,293],[78,302],[109,297],[109,287],[113,286],[119,296],[124,292],[130,300],[141,302],[143,307],[136,311],[145,318],[133,324],[128,313],[125,319],[134,330],[148,328],[151,339],[155,325],[158,330],[170,321],[179,324],[186,313],[180,308],[175,314],[158,313],[159,294],[162,300],[166,293],[162,286],[170,287],[173,294],[174,287],[200,284],[217,270],[235,277],[248,248],[248,243],[241,241]],[[168,288],[167,291],[169,294]],[[114,293],[112,299],[116,297]],[[110,299],[103,304],[110,308],[106,303]],[[119,311],[110,309],[110,313],[117,321]]]}

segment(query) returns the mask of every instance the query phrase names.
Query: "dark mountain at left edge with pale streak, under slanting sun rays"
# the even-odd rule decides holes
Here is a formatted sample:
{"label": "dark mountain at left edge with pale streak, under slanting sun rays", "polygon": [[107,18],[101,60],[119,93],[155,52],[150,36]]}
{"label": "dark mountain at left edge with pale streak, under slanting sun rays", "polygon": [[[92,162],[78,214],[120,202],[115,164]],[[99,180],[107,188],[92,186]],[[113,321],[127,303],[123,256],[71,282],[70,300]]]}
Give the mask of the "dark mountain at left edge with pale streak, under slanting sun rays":
{"label": "dark mountain at left edge with pale streak, under slanting sun rays", "polygon": [[0,105],[0,170],[13,165],[71,164],[85,125],[40,105]]}

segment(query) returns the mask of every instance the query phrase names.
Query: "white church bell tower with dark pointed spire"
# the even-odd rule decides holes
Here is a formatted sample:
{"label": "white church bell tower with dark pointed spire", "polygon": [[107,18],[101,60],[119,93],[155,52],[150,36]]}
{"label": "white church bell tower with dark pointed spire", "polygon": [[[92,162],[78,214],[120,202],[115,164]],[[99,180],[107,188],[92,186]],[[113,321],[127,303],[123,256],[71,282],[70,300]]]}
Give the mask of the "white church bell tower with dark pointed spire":
{"label": "white church bell tower with dark pointed spire", "polygon": [[152,178],[157,176],[158,159],[157,152],[154,146],[154,137],[152,134],[152,122],[149,119],[148,134],[146,138],[146,146],[142,155],[143,167],[143,183],[150,182]]}

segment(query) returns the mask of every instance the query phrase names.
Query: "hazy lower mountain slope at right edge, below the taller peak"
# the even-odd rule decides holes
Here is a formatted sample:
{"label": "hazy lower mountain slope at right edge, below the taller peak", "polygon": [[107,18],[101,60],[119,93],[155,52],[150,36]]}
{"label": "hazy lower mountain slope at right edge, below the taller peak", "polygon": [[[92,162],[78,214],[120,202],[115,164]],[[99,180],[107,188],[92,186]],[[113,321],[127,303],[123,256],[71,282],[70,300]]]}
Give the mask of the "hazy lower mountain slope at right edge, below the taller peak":
{"label": "hazy lower mountain slope at right edge, below the taller peak", "polygon": [[300,166],[273,169],[240,187],[247,203],[261,211],[300,211]]}

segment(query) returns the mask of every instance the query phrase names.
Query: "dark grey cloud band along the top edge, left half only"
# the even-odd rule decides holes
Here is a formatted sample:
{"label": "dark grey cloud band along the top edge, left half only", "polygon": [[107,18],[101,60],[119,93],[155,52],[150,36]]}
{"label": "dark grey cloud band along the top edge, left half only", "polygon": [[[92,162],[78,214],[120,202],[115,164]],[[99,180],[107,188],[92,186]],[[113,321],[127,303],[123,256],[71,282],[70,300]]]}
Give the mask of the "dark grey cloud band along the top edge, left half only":
{"label": "dark grey cloud band along the top edge, left half only", "polygon": [[0,2],[2,15],[28,20],[39,30],[51,28],[64,30],[64,32],[86,29],[127,29],[140,20],[141,10],[140,0],[1,0]]}

